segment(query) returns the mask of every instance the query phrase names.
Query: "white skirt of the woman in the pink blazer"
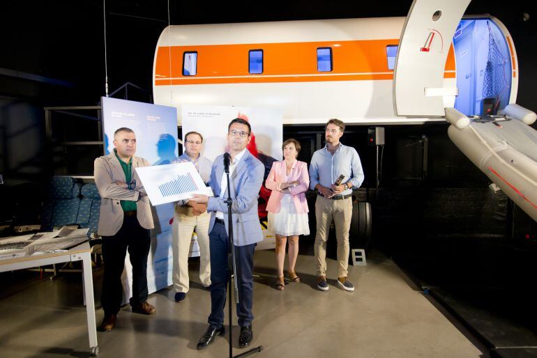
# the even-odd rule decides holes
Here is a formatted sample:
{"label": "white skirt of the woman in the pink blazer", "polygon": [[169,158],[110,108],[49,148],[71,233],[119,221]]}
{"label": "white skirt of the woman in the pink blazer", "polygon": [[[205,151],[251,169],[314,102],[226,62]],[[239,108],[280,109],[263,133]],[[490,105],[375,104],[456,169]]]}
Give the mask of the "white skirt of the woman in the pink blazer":
{"label": "white skirt of the woman in the pink blazer", "polygon": [[283,194],[280,212],[269,212],[269,231],[282,236],[310,235],[308,213],[298,214],[291,194]]}

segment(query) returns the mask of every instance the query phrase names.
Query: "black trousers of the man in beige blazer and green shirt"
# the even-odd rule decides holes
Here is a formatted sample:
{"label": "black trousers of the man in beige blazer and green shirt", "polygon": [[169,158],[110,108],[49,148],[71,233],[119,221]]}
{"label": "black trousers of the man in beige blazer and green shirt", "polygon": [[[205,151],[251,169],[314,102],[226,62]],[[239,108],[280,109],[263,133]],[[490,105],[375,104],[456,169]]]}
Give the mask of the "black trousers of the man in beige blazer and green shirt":
{"label": "black trousers of the man in beige blazer and green shirt", "polygon": [[133,297],[135,305],[147,299],[147,255],[151,246],[151,234],[138,223],[136,215],[123,217],[123,225],[113,236],[103,236],[103,295],[100,304],[105,315],[116,315],[123,301],[121,274],[125,266],[128,250],[130,264],[133,265]]}

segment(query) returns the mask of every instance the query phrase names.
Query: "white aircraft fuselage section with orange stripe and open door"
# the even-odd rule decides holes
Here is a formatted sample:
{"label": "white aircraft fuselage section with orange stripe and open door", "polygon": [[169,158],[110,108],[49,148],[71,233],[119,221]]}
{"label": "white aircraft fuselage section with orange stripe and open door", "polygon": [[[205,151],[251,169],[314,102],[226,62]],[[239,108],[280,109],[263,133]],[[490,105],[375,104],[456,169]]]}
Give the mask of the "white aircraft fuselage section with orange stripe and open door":
{"label": "white aircraft fuselage section with orange stripe and open door", "polygon": [[[494,17],[461,20],[468,3],[414,1],[406,18],[168,26],[154,102],[178,107],[179,125],[181,104],[274,107],[290,125],[424,123],[445,107],[481,113],[492,88],[504,108],[517,93],[513,41]],[[487,54],[503,63],[499,87],[484,81]]]}

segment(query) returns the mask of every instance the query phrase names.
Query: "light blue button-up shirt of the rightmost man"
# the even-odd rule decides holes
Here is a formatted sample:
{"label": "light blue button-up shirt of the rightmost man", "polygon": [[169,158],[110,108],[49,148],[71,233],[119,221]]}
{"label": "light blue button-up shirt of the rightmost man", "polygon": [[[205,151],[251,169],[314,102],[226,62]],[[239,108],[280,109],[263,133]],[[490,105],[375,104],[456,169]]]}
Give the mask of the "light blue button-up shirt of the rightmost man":
{"label": "light blue button-up shirt of the rightmost man", "polygon": [[[328,152],[326,146],[316,150],[310,163],[310,187],[315,190],[315,185],[331,187],[340,175],[345,176],[342,180],[350,180],[353,187],[360,187],[363,182],[363,170],[360,157],[356,149],[344,146],[342,143],[335,150],[334,155]],[[352,189],[347,189],[341,195],[351,194]]]}

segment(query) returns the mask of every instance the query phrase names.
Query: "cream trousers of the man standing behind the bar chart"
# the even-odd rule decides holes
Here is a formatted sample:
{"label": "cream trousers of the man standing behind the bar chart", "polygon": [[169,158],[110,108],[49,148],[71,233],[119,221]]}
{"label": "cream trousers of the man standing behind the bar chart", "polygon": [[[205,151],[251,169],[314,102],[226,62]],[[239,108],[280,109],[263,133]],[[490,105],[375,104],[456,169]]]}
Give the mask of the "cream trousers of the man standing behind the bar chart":
{"label": "cream trousers of the man standing behind the bar chart", "polygon": [[208,212],[196,216],[192,213],[192,208],[183,206],[175,208],[172,226],[172,251],[174,254],[172,281],[176,292],[187,293],[190,288],[188,252],[194,231],[196,231],[199,245],[199,281],[202,282],[203,286],[211,286],[209,221],[211,221],[211,215]]}

